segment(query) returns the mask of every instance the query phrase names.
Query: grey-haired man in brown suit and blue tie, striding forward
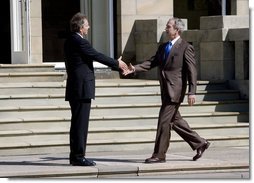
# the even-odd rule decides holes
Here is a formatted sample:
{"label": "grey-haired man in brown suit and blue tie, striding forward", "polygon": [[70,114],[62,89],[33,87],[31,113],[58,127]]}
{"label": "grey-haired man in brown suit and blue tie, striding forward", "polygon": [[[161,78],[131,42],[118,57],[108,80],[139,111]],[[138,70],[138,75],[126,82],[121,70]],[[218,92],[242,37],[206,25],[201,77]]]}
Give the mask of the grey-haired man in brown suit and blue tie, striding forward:
{"label": "grey-haired man in brown suit and blue tie, striding forward", "polygon": [[184,30],[181,19],[170,18],[166,24],[169,42],[159,46],[155,56],[141,64],[129,65],[129,72],[145,72],[154,67],[159,68],[162,106],[159,113],[156,140],[152,157],[146,163],[161,163],[166,161],[171,130],[175,130],[197,154],[193,160],[199,159],[210,143],[193,131],[181,117],[178,108],[183,102],[188,81],[188,103],[195,103],[197,71],[194,58],[194,48],[184,41],[180,35]]}

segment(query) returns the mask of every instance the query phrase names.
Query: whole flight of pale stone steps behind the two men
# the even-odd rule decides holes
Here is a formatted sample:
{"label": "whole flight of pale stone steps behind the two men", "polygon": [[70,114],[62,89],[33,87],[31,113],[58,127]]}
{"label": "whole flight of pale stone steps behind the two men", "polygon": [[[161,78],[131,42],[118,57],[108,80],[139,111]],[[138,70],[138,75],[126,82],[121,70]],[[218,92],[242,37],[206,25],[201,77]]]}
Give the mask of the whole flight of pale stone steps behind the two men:
{"label": "whole flight of pale stone steps behind the two men", "polygon": [[[0,65],[0,155],[69,152],[65,73],[52,65]],[[213,146],[249,145],[249,102],[226,82],[199,81],[197,102],[181,114]],[[158,81],[96,80],[87,152],[152,152]],[[188,146],[172,133],[171,148]]]}

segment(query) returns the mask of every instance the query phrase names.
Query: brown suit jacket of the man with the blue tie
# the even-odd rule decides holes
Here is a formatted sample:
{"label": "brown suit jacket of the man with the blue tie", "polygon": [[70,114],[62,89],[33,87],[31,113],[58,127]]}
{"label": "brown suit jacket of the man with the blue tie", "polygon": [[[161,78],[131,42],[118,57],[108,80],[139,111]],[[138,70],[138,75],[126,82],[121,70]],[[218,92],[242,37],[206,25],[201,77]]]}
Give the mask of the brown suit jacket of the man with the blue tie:
{"label": "brown suit jacket of the man with the blue tie", "polygon": [[166,43],[161,44],[155,56],[135,65],[135,70],[136,72],[148,71],[158,66],[162,101],[169,98],[171,102],[181,103],[185,96],[187,81],[188,94],[196,93],[197,71],[194,48],[179,38],[173,45],[166,64],[163,64],[165,46]]}

